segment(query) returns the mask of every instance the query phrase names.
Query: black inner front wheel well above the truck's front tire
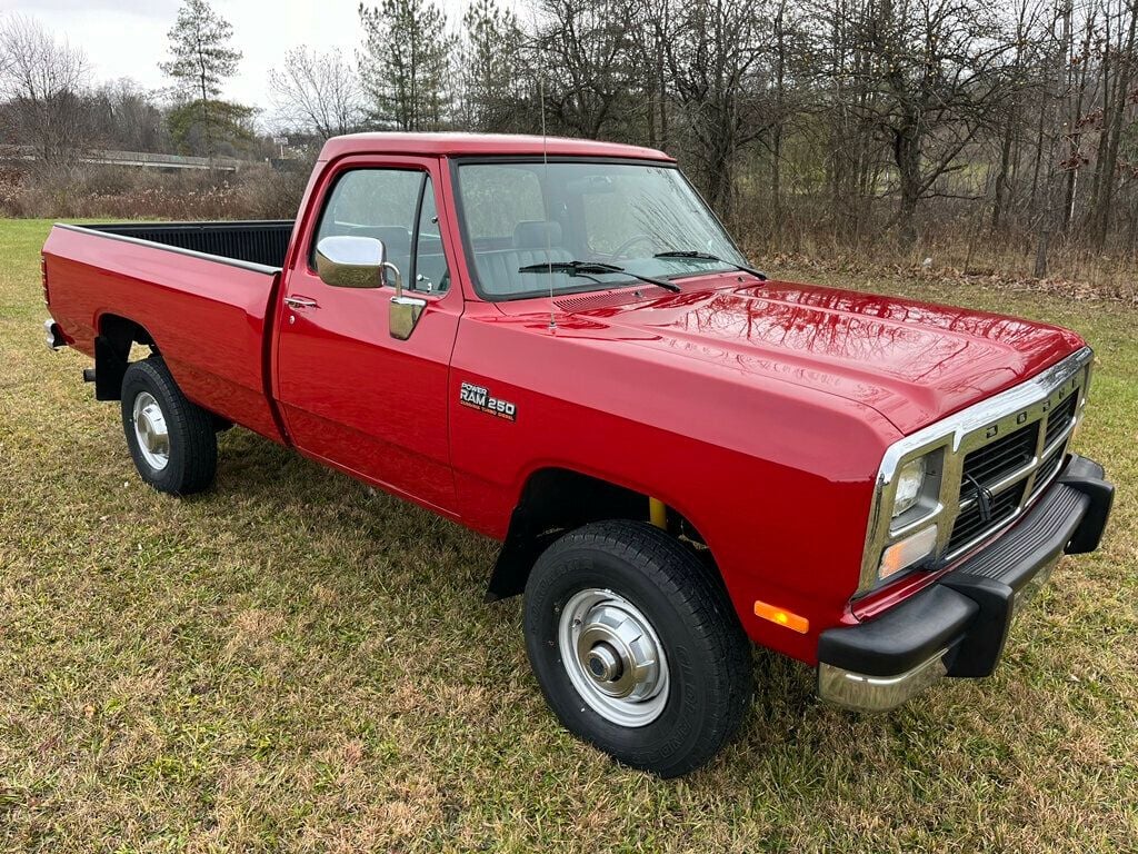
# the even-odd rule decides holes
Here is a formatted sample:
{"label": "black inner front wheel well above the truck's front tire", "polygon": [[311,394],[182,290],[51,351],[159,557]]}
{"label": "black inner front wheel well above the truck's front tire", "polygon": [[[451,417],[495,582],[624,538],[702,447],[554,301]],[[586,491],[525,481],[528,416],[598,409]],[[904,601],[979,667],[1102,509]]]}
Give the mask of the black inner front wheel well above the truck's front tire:
{"label": "black inner front wheel well above the truck's front tire", "polygon": [[[568,531],[604,519],[648,520],[649,498],[643,492],[570,469],[535,471],[526,481],[510,517],[510,529],[494,565],[486,599],[493,601],[521,593],[534,561]],[[666,527],[675,536],[703,544],[695,527],[674,508],[667,508]],[[710,559],[707,549],[701,552]]]}

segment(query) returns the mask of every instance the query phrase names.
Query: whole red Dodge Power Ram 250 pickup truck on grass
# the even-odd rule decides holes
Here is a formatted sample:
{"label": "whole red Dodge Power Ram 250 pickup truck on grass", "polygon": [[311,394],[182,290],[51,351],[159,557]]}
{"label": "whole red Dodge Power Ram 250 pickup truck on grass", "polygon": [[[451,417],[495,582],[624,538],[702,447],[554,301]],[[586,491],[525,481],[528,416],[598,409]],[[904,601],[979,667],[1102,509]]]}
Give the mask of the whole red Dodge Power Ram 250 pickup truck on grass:
{"label": "whole red Dodge Power Ram 250 pickup truck on grass", "polygon": [[750,642],[861,711],[990,674],[1110,514],[1078,335],[768,280],[655,150],[343,137],[295,222],[60,224],[43,272],[143,481],[207,488],[238,424],[502,541],[549,705],[662,775]]}

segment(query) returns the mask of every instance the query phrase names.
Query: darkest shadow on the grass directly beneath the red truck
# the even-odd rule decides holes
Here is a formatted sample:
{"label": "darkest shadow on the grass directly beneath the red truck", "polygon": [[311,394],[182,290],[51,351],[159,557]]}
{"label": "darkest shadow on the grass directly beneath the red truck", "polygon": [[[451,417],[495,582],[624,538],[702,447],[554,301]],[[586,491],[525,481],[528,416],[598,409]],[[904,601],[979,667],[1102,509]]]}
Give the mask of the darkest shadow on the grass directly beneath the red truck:
{"label": "darkest shadow on the grass directly beneath the red truck", "polygon": [[[508,649],[511,666],[533,688],[533,708],[545,714],[528,672],[520,597],[483,602],[497,543],[239,429],[222,437],[214,488],[188,500],[229,519],[234,508],[259,507],[258,515],[273,522],[250,535],[279,537],[281,557],[296,550],[307,572],[322,581],[394,594],[420,607],[461,602],[456,639],[494,647],[495,655]],[[310,548],[299,548],[304,542]],[[756,703],[743,739],[773,728],[793,734],[795,722],[819,705],[814,670],[765,649],[756,648],[754,656]],[[494,684],[496,679],[487,679],[488,688]],[[856,720],[826,711],[839,729]],[[545,716],[556,726],[552,715]]]}

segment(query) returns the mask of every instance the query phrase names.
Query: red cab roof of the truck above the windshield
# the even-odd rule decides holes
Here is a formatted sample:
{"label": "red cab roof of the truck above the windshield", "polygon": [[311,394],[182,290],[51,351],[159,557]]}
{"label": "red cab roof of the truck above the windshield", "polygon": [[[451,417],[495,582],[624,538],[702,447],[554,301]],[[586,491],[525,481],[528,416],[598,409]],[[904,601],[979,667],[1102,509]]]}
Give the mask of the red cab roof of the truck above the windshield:
{"label": "red cab roof of the truck above the windshield", "polygon": [[545,150],[551,157],[624,157],[638,161],[674,158],[654,148],[597,142],[591,139],[562,137],[527,137],[508,133],[351,133],[333,137],[324,143],[321,161],[349,154],[403,154],[436,157],[537,155]]}

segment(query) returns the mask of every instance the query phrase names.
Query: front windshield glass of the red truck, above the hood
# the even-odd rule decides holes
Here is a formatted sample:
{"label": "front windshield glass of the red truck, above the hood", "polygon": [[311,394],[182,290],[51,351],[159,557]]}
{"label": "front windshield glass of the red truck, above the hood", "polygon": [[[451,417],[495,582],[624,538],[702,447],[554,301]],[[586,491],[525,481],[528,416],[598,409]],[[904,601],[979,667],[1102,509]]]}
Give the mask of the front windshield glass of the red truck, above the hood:
{"label": "front windshield glass of the red truck, above the hood", "polygon": [[[679,170],[604,162],[465,163],[462,229],[478,291],[490,299],[622,287],[630,274],[678,278],[747,261]],[[707,258],[654,257],[695,252]],[[719,261],[718,258],[721,258]],[[592,281],[569,262],[618,265]],[[552,273],[535,265],[560,264]],[[522,268],[529,268],[520,272]]]}

